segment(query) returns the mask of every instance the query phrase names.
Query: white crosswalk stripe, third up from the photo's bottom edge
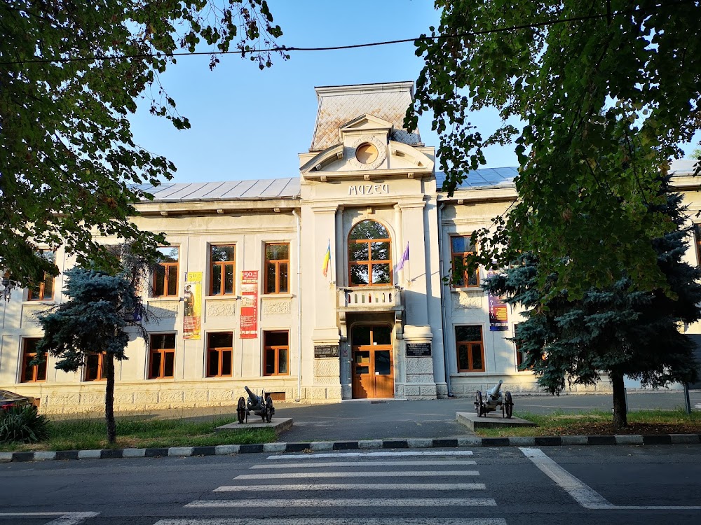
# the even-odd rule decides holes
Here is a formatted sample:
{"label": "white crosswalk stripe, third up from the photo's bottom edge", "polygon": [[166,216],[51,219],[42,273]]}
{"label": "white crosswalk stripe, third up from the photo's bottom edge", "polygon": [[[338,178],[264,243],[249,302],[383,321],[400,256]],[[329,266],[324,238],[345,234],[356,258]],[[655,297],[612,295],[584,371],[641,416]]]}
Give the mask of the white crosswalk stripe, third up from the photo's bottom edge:
{"label": "white crosswalk stripe, third up from the photo's bottom edge", "polygon": [[[484,483],[329,483],[329,484],[295,484],[274,485],[275,491],[483,491]],[[265,491],[271,485],[224,485],[215,492]]]}

